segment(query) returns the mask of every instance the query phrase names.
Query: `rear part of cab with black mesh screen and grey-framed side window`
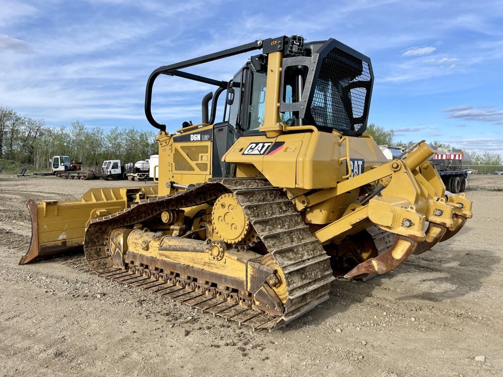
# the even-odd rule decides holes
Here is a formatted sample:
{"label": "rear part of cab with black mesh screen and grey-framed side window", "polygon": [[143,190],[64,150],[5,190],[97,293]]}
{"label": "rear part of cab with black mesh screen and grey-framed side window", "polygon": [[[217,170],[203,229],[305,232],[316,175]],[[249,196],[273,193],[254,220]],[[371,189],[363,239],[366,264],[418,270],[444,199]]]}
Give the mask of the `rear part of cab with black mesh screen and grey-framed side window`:
{"label": "rear part of cab with black mesh screen and grey-framed side window", "polygon": [[[283,58],[280,112],[327,131],[363,134],[374,80],[370,59],[331,38],[305,47],[306,56]],[[292,72],[303,72],[303,87],[300,95],[288,98],[298,92]]]}

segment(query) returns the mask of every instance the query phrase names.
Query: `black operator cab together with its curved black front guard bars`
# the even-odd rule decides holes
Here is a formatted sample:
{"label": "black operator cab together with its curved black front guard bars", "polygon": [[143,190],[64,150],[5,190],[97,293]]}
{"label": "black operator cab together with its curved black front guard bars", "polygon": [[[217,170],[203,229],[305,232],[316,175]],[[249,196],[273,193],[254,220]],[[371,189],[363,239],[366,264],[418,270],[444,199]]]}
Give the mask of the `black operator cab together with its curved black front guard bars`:
{"label": "black operator cab together with its curved black front guard bars", "polygon": [[[251,56],[230,81],[219,81],[182,70],[253,50],[262,51]],[[281,53],[279,58],[275,54],[278,52]],[[274,54],[280,69],[273,73],[274,77],[269,77],[269,90],[273,91],[268,96],[271,54]],[[194,132],[198,127],[213,125],[211,139],[210,136],[205,139],[213,142],[213,177],[231,174],[230,165],[221,160],[238,137],[265,135],[266,129],[277,129],[281,133],[286,128],[287,132],[296,132],[296,126],[314,126],[325,132],[362,135],[367,127],[374,80],[370,59],[335,39],[305,43],[300,36],[282,36],[257,40],[154,70],[147,81],[145,115],[149,123],[161,132],[165,132],[166,126],[155,121],[151,113],[153,83],[160,74],[217,87],[214,94],[209,92],[202,100],[202,122],[199,125],[184,122],[179,130],[183,134],[187,130]],[[215,123],[218,99],[223,91],[226,91],[223,119]],[[266,119],[267,106],[277,109],[272,118],[271,113],[275,110],[267,113],[269,120]],[[271,119],[275,119],[274,122]],[[302,131],[300,127],[299,131]]]}

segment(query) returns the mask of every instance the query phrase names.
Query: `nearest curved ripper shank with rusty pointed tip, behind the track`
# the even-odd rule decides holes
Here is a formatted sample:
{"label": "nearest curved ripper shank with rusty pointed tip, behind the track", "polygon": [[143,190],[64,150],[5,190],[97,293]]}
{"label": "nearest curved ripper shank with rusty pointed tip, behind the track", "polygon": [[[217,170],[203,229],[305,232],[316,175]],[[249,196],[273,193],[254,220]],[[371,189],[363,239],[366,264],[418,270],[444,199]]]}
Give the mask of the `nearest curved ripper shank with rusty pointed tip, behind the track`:
{"label": "nearest curved ripper shank with rusty pointed tip, behind the track", "polygon": [[358,264],[344,277],[347,279],[364,278],[376,272],[378,274],[389,272],[402,264],[412,254],[417,244],[416,241],[408,237],[397,235],[395,243],[389,250]]}

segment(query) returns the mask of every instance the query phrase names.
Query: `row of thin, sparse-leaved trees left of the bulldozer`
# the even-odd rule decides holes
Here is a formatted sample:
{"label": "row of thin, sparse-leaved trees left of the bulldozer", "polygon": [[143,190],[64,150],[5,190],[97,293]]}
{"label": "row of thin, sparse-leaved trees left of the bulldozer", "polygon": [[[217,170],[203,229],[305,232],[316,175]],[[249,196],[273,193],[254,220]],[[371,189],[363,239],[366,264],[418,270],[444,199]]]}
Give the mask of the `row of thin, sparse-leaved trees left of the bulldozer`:
{"label": "row of thin, sparse-leaved trees left of the bulldozer", "polygon": [[135,128],[86,127],[74,121],[70,126],[48,127],[43,119],[24,117],[0,107],[0,158],[49,168],[53,155],[69,156],[87,167],[101,166],[104,160],[134,162],[157,154],[156,133]]}

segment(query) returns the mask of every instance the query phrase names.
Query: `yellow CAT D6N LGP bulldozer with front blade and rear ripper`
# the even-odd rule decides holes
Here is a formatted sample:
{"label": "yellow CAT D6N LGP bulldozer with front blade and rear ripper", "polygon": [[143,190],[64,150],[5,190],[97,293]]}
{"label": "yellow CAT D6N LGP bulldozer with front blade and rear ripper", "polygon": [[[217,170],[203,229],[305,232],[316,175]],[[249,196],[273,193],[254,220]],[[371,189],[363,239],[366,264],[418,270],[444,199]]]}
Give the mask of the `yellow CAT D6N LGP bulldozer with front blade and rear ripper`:
{"label": "yellow CAT D6N LGP bulldozer with front blade and rear ripper", "polygon": [[[254,50],[229,81],[186,70]],[[170,134],[154,119],[159,75],[216,87],[200,123]],[[424,141],[388,162],[364,134],[373,80],[367,56],[300,36],[155,69],[156,185],[30,200],[20,263],[83,245],[100,276],[269,330],[327,300],[334,276],[397,268],[455,235],[472,202],[446,191]]]}

